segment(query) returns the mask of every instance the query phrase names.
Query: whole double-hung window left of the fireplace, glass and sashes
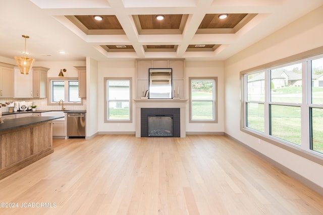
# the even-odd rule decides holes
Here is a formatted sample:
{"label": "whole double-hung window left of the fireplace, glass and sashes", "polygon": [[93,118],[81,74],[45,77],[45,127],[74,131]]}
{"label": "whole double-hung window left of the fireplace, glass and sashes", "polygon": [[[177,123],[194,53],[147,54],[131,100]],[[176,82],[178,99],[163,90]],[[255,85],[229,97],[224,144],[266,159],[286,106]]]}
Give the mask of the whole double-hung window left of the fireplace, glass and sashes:
{"label": "whole double-hung window left of the fireplace, glass and sashes", "polygon": [[132,122],[131,78],[104,78],[104,122]]}

